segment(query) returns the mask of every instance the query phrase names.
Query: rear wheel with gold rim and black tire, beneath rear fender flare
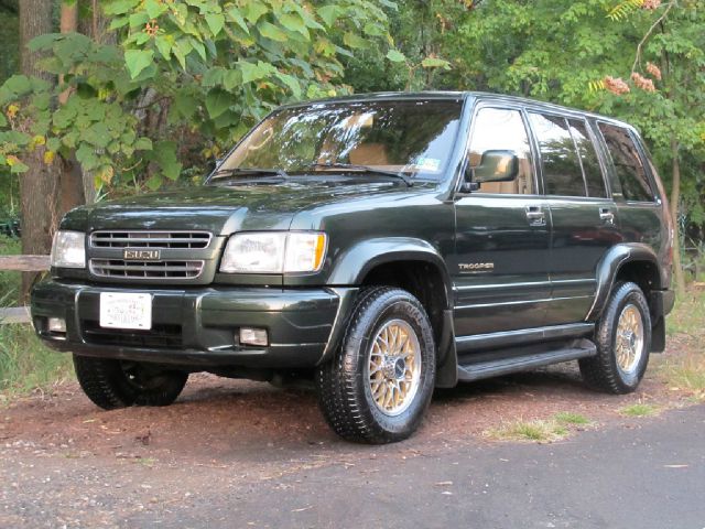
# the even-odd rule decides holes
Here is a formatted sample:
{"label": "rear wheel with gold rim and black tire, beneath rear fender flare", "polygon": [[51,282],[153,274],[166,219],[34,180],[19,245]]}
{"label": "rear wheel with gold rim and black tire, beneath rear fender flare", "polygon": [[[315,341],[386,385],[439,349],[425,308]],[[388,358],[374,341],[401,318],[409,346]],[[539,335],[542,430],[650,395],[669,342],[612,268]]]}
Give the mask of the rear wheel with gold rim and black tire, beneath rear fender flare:
{"label": "rear wheel with gold rim and black tire, beneath rear fender flare", "polygon": [[583,379],[610,393],[637,389],[649,364],[651,317],[641,289],[617,283],[595,334],[597,356],[579,360]]}

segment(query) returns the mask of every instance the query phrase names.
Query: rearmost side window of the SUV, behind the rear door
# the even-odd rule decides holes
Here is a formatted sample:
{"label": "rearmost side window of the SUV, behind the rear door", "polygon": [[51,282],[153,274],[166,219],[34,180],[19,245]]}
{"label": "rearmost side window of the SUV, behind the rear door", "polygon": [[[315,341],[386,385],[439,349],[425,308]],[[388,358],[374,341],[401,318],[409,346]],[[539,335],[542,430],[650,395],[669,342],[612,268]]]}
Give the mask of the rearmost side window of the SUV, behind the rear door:
{"label": "rearmost side window of the SUV, behind the rear door", "polygon": [[599,123],[615,174],[626,201],[653,202],[653,190],[629,131],[622,127]]}

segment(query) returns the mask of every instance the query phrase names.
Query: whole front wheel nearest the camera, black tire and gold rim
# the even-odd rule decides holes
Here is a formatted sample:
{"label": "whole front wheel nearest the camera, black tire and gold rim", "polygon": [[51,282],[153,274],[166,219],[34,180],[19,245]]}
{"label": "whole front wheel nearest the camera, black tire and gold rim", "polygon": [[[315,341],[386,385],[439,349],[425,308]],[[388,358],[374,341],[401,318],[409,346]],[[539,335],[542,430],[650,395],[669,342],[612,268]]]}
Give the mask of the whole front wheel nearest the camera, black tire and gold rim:
{"label": "whole front wheel nearest the camera, black tire and gold rim", "polygon": [[431,402],[435,358],[433,328],[419,300],[394,288],[361,291],[340,348],[316,373],[326,421],[348,441],[409,438]]}

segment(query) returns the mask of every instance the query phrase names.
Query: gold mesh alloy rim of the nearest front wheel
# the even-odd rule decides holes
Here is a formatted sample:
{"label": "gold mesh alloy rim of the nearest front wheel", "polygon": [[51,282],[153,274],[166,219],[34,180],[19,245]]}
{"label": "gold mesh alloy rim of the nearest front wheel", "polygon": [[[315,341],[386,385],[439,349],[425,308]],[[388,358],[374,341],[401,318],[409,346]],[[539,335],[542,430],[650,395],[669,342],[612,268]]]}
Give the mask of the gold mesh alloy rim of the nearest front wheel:
{"label": "gold mesh alloy rim of the nearest front wheel", "polygon": [[409,323],[391,320],[378,331],[365,375],[382,413],[395,417],[411,406],[421,380],[421,345]]}

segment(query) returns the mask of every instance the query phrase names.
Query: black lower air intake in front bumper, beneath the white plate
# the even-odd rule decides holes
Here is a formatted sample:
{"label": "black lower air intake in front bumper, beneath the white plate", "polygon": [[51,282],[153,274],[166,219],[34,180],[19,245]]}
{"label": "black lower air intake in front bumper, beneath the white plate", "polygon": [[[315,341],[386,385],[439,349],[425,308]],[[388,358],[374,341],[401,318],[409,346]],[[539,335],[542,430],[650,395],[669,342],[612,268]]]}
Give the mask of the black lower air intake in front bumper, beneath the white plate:
{"label": "black lower air intake in front bumper, beneath the white plate", "polygon": [[183,346],[181,325],[154,325],[150,331],[104,328],[94,320],[82,322],[84,339],[89,344],[150,347],[155,349]]}

